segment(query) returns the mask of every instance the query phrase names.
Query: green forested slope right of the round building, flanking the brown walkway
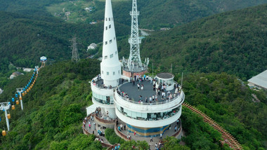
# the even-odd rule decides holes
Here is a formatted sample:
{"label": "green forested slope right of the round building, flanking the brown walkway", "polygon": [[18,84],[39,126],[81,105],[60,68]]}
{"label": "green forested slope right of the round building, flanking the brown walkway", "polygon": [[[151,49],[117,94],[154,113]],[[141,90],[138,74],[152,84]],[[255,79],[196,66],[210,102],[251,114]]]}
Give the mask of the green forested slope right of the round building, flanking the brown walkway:
{"label": "green forested slope right of the round building, flanking the brown walkway", "polygon": [[[226,73],[189,74],[183,88],[185,101],[222,125],[244,149],[263,149],[267,139],[267,98],[262,91],[250,90],[237,77]],[[253,101],[252,94],[261,102]],[[188,133],[183,140],[191,149],[203,149],[209,140],[195,129],[200,123],[191,121],[191,113],[184,110],[181,116],[185,121],[183,129]],[[188,119],[190,121],[186,121]],[[216,133],[213,134],[216,137]],[[211,145],[214,144],[209,143],[204,149],[212,149]]]}

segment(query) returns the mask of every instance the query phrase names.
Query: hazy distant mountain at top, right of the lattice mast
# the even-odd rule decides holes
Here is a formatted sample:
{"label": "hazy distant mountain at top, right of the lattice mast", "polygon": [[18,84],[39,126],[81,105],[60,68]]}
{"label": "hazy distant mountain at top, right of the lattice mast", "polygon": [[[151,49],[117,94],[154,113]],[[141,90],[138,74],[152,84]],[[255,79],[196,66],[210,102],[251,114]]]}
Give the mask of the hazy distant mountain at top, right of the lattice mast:
{"label": "hazy distant mountain at top, right of the lattice mast", "polygon": [[138,1],[141,11],[141,27],[173,27],[200,18],[233,11],[249,6],[267,4],[267,0],[142,0]]}

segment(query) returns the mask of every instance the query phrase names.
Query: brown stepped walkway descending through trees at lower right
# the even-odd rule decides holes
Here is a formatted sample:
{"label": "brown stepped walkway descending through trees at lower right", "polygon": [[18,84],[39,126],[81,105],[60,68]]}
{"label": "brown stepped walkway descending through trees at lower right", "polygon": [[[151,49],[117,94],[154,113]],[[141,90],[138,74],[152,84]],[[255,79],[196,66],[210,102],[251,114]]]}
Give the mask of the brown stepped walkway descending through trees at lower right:
{"label": "brown stepped walkway descending through trees at lower right", "polygon": [[228,144],[231,149],[243,149],[241,144],[237,142],[235,137],[233,135],[230,135],[229,132],[227,132],[224,128],[222,128],[218,123],[216,123],[214,120],[209,118],[206,114],[204,114],[202,111],[198,110],[197,108],[191,106],[190,104],[187,104],[183,102],[183,106],[187,107],[191,111],[193,111],[195,114],[198,114],[201,116],[205,123],[208,123],[211,127],[213,127],[215,130],[218,130],[221,132],[221,136],[223,137],[223,140],[221,140],[221,144]]}

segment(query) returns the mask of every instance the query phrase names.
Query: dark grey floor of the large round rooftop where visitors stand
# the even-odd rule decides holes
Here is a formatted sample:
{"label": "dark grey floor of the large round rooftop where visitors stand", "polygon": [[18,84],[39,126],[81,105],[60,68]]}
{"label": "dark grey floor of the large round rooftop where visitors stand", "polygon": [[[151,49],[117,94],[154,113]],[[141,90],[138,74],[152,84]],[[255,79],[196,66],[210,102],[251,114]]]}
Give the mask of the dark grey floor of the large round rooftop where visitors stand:
{"label": "dark grey floor of the large round rooftop where visitors stand", "polygon": [[[152,83],[150,83],[150,81],[143,81],[141,83],[139,83],[140,85],[143,84],[143,90],[138,90],[137,84],[139,82],[136,81],[135,85],[133,85],[133,83],[131,82],[126,82],[124,84],[122,84],[121,86],[119,86],[119,90],[120,92],[124,92],[127,93],[129,95],[129,98],[131,100],[134,100],[134,102],[138,102],[139,101],[139,96],[142,96],[142,100],[143,102],[145,102],[145,97],[148,97],[148,102],[150,102],[149,98],[150,96],[152,97],[152,95],[156,95],[156,90],[153,90],[153,86]],[[171,94],[174,94],[175,88],[174,90],[170,90]],[[164,91],[165,94],[167,95],[168,90]],[[162,92],[160,91],[160,95],[157,96],[157,100],[158,102],[162,102]]]}

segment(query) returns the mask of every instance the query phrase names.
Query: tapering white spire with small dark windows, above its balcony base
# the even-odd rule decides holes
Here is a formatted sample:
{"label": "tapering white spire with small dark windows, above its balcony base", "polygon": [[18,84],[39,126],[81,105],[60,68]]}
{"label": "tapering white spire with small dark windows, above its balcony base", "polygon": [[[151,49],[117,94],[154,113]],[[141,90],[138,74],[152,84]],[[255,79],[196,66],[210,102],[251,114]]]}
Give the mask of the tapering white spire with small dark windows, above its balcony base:
{"label": "tapering white spire with small dark windows, above its balcony base", "polygon": [[121,77],[121,63],[117,52],[117,41],[113,21],[111,0],[105,1],[105,23],[103,36],[101,77],[105,86],[115,87]]}

